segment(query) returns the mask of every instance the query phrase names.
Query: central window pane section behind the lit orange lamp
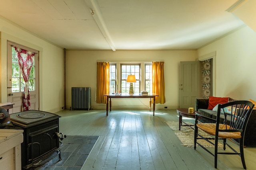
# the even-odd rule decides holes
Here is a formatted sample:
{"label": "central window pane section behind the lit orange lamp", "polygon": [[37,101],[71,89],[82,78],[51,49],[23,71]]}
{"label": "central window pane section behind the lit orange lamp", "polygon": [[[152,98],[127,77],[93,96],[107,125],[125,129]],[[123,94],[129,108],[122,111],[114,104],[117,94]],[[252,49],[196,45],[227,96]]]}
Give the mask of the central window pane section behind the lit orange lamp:
{"label": "central window pane section behind the lit orange lamp", "polygon": [[140,64],[121,64],[121,93],[129,93],[130,83],[126,82],[128,75],[135,75],[134,93],[140,93]]}

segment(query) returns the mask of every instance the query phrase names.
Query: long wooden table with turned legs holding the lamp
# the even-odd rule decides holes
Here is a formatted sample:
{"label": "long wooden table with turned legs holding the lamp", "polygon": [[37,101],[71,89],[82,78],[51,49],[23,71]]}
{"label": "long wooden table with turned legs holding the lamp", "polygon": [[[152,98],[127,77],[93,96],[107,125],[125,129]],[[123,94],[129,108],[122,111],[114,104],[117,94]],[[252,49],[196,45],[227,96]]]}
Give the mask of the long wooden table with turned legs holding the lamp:
{"label": "long wooden table with turned legs holding the lamp", "polygon": [[151,111],[151,99],[153,98],[153,116],[155,115],[155,104],[156,104],[156,96],[157,94],[148,94],[148,95],[141,95],[140,93],[136,94],[104,94],[103,96],[107,96],[107,105],[106,105],[106,114],[108,115],[108,100],[109,100],[109,107],[111,111],[111,98],[149,98],[149,111]]}

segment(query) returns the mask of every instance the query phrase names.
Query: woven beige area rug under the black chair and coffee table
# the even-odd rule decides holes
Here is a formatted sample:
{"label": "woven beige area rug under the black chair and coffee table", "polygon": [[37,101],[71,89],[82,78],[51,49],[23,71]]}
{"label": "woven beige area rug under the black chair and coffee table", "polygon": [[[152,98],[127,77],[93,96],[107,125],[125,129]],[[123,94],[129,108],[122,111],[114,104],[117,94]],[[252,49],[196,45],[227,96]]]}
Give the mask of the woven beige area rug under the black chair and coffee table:
{"label": "woven beige area rug under the black chair and coffee table", "polygon": [[[181,126],[179,131],[179,122],[176,121],[166,121],[167,125],[174,131],[175,135],[182,142],[182,146],[194,147],[194,130],[188,126]],[[188,125],[193,125],[191,122],[186,122]],[[207,133],[198,129],[199,134],[202,134],[204,137],[210,137]],[[208,143],[204,139],[198,139],[198,143],[204,147],[214,147],[214,145]],[[214,140],[212,140],[214,143]],[[223,147],[221,143],[218,143],[218,147]]]}

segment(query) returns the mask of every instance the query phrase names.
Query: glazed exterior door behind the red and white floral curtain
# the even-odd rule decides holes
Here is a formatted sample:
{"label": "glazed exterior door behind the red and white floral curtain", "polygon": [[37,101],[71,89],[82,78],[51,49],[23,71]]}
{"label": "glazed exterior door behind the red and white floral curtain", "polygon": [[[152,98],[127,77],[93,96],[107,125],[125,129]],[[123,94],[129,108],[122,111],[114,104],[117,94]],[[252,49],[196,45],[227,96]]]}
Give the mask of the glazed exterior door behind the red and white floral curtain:
{"label": "glazed exterior door behind the red and white floral curtain", "polygon": [[22,111],[22,98],[24,91],[24,80],[18,66],[18,59],[15,56],[15,47],[36,53],[29,78],[30,104],[32,110],[39,110],[39,51],[18,45],[8,41],[7,44],[7,102],[13,103],[10,113]]}

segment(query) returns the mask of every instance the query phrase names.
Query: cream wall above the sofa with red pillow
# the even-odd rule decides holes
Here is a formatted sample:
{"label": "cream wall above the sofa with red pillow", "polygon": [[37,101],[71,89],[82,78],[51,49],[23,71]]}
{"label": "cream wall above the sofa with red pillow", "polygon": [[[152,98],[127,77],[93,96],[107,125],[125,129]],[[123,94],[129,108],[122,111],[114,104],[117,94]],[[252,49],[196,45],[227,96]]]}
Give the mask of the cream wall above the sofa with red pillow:
{"label": "cream wall above the sofa with red pillow", "polygon": [[245,26],[198,49],[198,56],[216,51],[216,96],[256,100],[256,32]]}

